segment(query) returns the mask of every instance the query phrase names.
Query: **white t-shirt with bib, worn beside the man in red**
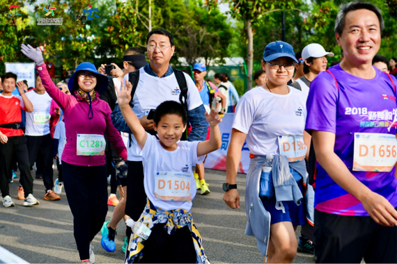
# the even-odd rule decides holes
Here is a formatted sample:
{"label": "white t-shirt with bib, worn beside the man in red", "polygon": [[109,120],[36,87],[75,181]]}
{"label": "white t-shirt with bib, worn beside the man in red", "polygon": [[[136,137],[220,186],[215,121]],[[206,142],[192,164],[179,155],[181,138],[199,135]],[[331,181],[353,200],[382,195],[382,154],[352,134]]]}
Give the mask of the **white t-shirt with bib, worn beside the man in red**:
{"label": "white t-shirt with bib, worn beside the man in red", "polygon": [[51,118],[49,110],[52,98],[49,97],[47,92],[38,94],[34,90],[26,92],[26,97],[33,104],[33,112],[26,112],[26,135],[48,135],[49,119]]}

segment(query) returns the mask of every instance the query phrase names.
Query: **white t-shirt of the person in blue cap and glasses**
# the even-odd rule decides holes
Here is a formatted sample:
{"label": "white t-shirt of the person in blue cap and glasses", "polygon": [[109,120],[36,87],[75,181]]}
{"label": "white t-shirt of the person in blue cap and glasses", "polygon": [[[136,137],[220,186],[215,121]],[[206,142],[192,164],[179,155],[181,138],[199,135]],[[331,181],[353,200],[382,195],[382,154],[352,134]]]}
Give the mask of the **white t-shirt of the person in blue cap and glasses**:
{"label": "white t-shirt of the person in blue cap and glasses", "polygon": [[233,129],[247,134],[250,154],[280,154],[279,135],[302,134],[306,122],[306,96],[288,86],[286,95],[262,87],[246,92],[235,109]]}

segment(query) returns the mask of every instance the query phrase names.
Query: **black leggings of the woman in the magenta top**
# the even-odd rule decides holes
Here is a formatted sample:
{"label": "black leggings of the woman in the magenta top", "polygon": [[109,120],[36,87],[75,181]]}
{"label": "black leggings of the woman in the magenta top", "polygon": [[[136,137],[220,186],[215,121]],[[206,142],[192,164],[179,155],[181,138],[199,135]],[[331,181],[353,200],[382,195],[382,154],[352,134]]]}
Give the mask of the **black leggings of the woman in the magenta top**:
{"label": "black leggings of the woman in the magenta top", "polygon": [[107,214],[106,165],[79,166],[62,160],[63,184],[80,259],[89,258],[89,242],[100,231]]}

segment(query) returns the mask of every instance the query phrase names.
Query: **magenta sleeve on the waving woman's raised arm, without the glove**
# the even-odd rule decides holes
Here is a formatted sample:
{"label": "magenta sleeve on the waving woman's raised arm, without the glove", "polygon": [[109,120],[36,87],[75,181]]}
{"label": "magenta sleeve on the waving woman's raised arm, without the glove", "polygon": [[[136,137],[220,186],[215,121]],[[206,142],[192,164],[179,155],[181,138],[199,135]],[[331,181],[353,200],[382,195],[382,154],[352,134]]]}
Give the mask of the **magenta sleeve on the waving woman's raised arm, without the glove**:
{"label": "magenta sleeve on the waving woman's raised arm, without the glove", "polygon": [[47,67],[45,66],[45,64],[36,65],[36,69],[38,69],[38,67],[42,67],[41,71],[38,70],[38,75],[40,76],[42,85],[48,92],[49,96],[54,99],[56,104],[58,104],[62,108],[62,110],[68,108],[70,95],[64,94],[63,92],[61,92],[61,90],[59,90],[59,88],[56,87],[47,72]]}

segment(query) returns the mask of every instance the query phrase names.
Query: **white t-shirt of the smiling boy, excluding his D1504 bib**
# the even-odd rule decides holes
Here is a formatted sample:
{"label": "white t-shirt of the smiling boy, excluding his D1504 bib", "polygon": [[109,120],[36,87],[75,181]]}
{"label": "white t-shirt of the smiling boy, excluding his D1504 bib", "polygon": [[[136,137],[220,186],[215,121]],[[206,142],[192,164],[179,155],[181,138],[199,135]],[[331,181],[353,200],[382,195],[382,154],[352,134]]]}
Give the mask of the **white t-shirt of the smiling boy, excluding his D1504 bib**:
{"label": "white t-shirt of the smiling boy, excluding his D1504 bib", "polygon": [[[196,196],[196,180],[193,176],[192,166],[201,164],[205,156],[197,157],[197,145],[199,141],[178,141],[178,147],[174,151],[165,150],[154,135],[148,134],[145,146],[137,151],[143,158],[143,184],[148,199],[157,208],[171,211],[178,208],[190,211],[192,201]],[[190,192],[192,201],[163,201],[155,199],[155,175],[157,172],[179,172],[190,174]]]}

